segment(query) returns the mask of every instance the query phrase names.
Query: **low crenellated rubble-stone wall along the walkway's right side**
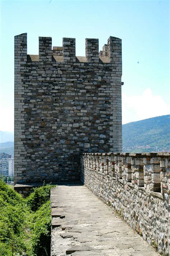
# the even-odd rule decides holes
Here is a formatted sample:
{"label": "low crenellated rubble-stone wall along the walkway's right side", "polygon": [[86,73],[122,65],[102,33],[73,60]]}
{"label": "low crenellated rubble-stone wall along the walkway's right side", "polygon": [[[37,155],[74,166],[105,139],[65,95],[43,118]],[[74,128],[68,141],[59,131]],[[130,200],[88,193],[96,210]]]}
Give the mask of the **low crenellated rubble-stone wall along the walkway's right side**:
{"label": "low crenellated rubble-stone wall along the walkway's right side", "polygon": [[170,153],[85,153],[81,180],[159,252],[169,255]]}

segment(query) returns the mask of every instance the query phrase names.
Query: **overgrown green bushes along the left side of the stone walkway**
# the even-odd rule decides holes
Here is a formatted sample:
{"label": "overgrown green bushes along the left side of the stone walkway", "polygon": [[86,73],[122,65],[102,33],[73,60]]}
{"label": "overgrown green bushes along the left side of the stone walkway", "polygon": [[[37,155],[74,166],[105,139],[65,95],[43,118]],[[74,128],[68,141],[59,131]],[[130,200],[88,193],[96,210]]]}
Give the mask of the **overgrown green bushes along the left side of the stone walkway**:
{"label": "overgrown green bushes along the left side of the stone walkway", "polygon": [[0,180],[0,255],[50,255],[50,189],[43,184],[23,198]]}

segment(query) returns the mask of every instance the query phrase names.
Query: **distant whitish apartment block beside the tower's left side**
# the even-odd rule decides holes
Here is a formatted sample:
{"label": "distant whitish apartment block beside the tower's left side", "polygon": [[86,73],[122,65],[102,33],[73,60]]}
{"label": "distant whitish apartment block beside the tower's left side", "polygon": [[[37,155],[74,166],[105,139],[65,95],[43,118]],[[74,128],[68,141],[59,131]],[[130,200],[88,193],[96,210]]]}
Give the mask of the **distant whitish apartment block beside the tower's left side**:
{"label": "distant whitish apartment block beside the tower's left side", "polygon": [[[6,155],[9,156],[8,154]],[[14,176],[14,158],[0,159],[0,174],[3,176]]]}

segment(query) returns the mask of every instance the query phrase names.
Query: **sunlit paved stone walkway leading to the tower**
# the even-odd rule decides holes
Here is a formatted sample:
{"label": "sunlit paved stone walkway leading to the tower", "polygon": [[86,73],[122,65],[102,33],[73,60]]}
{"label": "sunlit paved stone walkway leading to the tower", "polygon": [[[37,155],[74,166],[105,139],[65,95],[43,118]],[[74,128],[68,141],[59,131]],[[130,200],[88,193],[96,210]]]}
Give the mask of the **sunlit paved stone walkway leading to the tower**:
{"label": "sunlit paved stone walkway leading to the tower", "polygon": [[51,256],[160,255],[82,184],[51,190]]}

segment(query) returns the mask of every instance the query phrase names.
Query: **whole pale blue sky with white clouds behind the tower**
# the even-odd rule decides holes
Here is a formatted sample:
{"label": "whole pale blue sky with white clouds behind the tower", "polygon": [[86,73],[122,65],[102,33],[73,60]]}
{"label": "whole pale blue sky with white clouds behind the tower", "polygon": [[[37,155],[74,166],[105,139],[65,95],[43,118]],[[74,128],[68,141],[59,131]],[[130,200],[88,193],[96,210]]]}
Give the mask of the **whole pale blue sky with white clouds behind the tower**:
{"label": "whole pale blue sky with white clouds behind the tower", "polygon": [[27,32],[28,54],[38,54],[38,36],[122,38],[123,123],[170,114],[169,1],[0,1],[0,131],[13,131],[14,36]]}

